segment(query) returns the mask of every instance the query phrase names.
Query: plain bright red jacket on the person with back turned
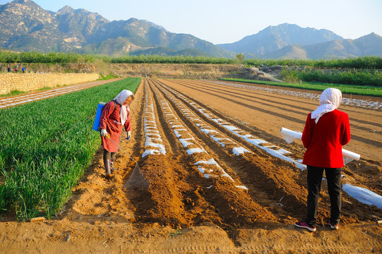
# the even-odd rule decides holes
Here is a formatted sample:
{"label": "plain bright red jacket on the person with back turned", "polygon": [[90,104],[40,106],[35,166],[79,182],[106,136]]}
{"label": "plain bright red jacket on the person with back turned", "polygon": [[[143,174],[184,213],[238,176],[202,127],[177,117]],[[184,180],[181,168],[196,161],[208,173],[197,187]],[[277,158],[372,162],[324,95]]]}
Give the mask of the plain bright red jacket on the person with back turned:
{"label": "plain bright red jacket on the person with back turned", "polygon": [[313,167],[344,167],[342,145],[350,141],[349,116],[335,109],[321,116],[318,123],[306,119],[302,143],[306,148],[303,164]]}

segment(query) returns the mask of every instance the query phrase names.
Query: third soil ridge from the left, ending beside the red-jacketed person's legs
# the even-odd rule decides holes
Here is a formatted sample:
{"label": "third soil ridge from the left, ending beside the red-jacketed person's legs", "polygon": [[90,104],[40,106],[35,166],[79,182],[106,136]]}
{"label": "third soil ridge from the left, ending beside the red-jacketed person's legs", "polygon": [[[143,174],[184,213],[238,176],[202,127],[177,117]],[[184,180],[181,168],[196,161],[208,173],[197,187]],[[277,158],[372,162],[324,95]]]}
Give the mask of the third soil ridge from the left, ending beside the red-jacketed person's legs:
{"label": "third soil ridge from the left, ending beside the red-jacketed person's legs", "polygon": [[[294,214],[297,211],[304,213],[306,190],[302,185],[296,183],[301,179],[299,176],[301,171],[294,171],[293,168],[285,167],[285,165],[282,165],[282,162],[275,162],[275,159],[270,157],[258,157],[253,152],[246,152],[244,155],[232,154],[231,143],[221,141],[230,140],[227,135],[220,133],[217,128],[208,125],[207,122],[191,112],[192,107],[186,107],[178,99],[175,99],[173,95],[170,95],[169,91],[165,91],[163,87],[161,88],[169,100],[172,100],[173,107],[177,109],[179,116],[184,115],[184,122],[188,122],[188,126],[193,126],[194,133],[198,133],[199,137],[204,136],[203,140],[205,140],[205,143],[217,152],[220,155],[220,159],[224,160],[234,173],[240,177],[245,186],[249,187],[249,194],[253,200],[256,200],[256,202],[263,206],[277,210],[277,213],[280,215],[285,214],[282,210],[289,213],[293,211]],[[205,130],[209,132],[206,133]],[[213,135],[209,133],[213,133]],[[217,136],[220,136],[221,140],[216,142]],[[239,145],[237,143],[234,144],[235,147]],[[286,178],[285,172],[288,171],[290,176]]]}

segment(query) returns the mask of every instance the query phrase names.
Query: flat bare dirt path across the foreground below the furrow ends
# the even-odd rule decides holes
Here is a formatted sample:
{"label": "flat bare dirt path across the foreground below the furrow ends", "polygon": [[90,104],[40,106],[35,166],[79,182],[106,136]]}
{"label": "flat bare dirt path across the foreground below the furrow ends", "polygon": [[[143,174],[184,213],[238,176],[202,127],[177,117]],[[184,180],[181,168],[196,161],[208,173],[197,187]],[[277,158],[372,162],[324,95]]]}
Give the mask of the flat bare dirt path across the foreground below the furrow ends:
{"label": "flat bare dirt path across the foreground below the furrow ends", "polygon": [[[316,234],[267,224],[234,231],[214,225],[175,230],[160,224],[1,223],[1,253],[381,253],[381,226],[356,224]],[[69,236],[69,238],[68,238]],[[68,240],[67,240],[68,239]]]}

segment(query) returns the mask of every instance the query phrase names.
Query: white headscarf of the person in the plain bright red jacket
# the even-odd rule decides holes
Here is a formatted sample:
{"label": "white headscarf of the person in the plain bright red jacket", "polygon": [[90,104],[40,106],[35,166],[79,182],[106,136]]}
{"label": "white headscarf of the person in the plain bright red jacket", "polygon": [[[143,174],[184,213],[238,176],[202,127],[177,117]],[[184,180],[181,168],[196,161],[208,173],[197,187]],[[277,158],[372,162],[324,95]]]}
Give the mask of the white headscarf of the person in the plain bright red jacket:
{"label": "white headscarf of the person in the plain bright red jacket", "polygon": [[336,88],[326,88],[320,96],[320,106],[311,112],[311,119],[316,119],[316,123],[324,114],[340,107],[342,101],[342,92]]}

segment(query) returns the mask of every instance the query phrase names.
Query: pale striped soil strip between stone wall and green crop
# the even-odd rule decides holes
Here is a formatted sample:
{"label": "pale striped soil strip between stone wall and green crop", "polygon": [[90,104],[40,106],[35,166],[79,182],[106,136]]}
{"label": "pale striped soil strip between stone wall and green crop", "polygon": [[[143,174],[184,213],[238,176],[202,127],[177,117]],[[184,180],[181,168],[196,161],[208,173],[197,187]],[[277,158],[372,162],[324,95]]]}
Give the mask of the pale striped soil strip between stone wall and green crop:
{"label": "pale striped soil strip between stone wall and green crop", "polygon": [[50,97],[54,97],[57,95],[65,95],[69,92],[75,92],[78,90],[83,90],[87,89],[90,87],[94,87],[96,85],[105,85],[107,83],[111,83],[117,80],[121,80],[121,78],[114,78],[111,80],[97,80],[97,81],[92,81],[89,83],[81,83],[77,85],[68,85],[65,87],[59,87],[59,88],[52,88],[49,90],[44,90],[44,91],[34,91],[34,92],[29,92],[26,95],[18,95],[14,97],[0,97],[0,109],[4,109],[6,107],[13,107],[17,106],[20,104],[24,104],[27,102],[34,102],[36,100],[40,99],[47,99]]}

